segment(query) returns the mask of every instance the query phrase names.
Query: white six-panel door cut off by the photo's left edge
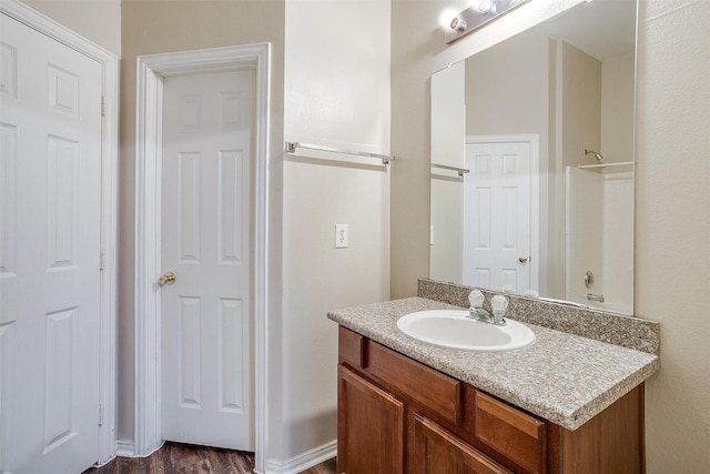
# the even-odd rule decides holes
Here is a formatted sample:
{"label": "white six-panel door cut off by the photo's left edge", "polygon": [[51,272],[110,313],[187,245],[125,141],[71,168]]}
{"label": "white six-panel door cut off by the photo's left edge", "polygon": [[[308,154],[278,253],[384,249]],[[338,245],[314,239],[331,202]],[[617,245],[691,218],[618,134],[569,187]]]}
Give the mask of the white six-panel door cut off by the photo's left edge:
{"label": "white six-panel door cut off by the photo's left edge", "polygon": [[0,14],[0,471],[98,461],[101,65]]}

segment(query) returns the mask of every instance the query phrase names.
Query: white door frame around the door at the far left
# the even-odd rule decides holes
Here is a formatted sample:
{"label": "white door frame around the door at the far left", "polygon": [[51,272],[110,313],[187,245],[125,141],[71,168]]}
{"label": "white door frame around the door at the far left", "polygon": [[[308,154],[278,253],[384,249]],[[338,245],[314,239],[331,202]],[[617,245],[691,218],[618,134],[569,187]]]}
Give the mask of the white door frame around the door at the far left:
{"label": "white door frame around the door at the far left", "polygon": [[116,390],[116,235],[118,235],[118,135],[119,60],[57,21],[19,1],[0,2],[0,12],[27,24],[81,54],[97,61],[102,71],[101,125],[101,303],[99,353],[99,465],[115,456]]}

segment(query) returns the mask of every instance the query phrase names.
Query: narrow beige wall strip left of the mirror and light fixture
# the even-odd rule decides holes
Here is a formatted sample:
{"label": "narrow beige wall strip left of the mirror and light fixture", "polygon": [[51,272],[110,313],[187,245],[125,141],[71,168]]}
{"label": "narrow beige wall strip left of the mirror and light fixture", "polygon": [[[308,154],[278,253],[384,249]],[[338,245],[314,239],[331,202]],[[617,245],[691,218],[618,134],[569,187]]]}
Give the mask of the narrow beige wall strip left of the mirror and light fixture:
{"label": "narrow beige wall strip left of the mirror and light fixture", "polygon": [[[392,297],[429,273],[429,75],[446,2],[392,2]],[[443,69],[443,68],[439,68]]]}

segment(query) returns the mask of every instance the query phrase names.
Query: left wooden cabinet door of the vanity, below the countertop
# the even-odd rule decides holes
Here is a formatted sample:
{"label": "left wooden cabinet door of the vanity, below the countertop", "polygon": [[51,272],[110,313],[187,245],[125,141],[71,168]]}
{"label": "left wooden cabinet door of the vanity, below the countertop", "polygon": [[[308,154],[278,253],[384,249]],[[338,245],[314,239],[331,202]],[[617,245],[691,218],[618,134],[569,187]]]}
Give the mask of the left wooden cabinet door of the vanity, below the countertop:
{"label": "left wooden cabinet door of the vanity, below the countertop", "polygon": [[338,365],[337,472],[402,474],[404,404]]}

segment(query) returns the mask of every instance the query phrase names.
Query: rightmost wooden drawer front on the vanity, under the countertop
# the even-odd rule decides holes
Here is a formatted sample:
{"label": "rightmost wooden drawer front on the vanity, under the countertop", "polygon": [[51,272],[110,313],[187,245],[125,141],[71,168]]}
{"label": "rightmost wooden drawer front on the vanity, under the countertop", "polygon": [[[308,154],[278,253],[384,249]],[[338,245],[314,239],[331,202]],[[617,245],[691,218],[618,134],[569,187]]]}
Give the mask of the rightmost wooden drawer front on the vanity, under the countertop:
{"label": "rightmost wooden drawer front on the vanity, under the countertop", "polygon": [[476,393],[476,437],[531,473],[545,472],[545,423]]}

